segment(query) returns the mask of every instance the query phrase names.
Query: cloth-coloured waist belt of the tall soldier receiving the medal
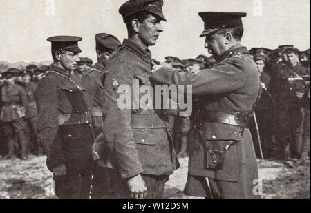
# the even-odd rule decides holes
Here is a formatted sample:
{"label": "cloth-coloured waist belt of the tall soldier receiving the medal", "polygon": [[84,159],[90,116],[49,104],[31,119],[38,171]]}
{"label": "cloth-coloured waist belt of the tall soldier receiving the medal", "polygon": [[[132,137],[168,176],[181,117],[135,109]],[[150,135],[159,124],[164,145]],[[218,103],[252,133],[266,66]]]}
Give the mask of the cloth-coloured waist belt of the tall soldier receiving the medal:
{"label": "cloth-coloured waist belt of the tall soldier receiving the medal", "polygon": [[162,116],[168,121],[167,114],[131,114],[132,128],[167,128]]}

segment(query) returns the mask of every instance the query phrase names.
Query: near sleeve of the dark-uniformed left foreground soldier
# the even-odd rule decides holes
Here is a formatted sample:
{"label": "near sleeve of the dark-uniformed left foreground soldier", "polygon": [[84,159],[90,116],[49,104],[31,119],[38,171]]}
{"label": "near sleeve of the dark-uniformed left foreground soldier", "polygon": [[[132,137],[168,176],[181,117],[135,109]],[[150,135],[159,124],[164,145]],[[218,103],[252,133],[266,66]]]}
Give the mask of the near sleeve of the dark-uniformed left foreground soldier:
{"label": "near sleeve of the dark-uniformed left foreground soldier", "polygon": [[39,112],[37,120],[39,138],[48,156],[48,167],[54,168],[65,161],[57,123],[59,116],[57,82],[50,77],[41,79],[35,92],[35,99]]}

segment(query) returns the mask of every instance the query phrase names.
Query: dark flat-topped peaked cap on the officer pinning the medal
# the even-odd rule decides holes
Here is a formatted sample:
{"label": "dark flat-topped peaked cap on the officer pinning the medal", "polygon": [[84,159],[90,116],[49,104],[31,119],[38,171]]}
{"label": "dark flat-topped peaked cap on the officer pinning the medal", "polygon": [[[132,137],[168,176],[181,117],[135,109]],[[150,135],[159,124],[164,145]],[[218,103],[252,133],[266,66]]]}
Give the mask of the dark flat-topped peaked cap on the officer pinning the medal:
{"label": "dark flat-topped peaked cap on the officer pinning the medal", "polygon": [[206,37],[224,28],[243,25],[242,17],[246,17],[245,12],[199,12],[199,16],[204,21],[204,31],[200,37]]}

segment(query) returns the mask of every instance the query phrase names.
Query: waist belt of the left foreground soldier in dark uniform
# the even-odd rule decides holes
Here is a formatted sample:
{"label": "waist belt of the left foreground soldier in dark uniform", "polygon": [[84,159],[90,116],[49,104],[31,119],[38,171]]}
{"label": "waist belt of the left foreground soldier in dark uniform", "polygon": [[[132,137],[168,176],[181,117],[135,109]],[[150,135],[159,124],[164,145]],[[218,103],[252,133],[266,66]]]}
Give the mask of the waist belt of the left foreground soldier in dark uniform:
{"label": "waist belt of the left foreground soldier in dark uniform", "polygon": [[92,123],[92,116],[89,112],[85,114],[59,114],[58,125],[81,125]]}

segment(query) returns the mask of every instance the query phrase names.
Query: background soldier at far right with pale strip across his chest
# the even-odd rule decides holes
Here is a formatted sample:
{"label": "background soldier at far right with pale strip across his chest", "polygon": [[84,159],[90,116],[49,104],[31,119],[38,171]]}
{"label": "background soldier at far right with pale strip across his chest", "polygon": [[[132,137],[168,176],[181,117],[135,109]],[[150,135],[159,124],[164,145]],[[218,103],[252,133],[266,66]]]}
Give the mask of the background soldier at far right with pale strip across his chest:
{"label": "background soldier at far right with pale strip across his chest", "polygon": [[[276,67],[276,84],[273,91],[276,108],[276,153],[277,159],[285,157],[299,157],[303,136],[304,114],[299,105],[306,86],[303,80],[295,81],[305,75],[310,75],[307,68],[299,63],[299,50],[288,47],[283,54],[287,61],[279,63]],[[282,110],[278,110],[282,109]],[[291,151],[291,152],[290,152]]]}

